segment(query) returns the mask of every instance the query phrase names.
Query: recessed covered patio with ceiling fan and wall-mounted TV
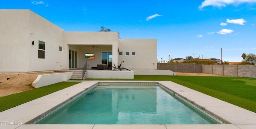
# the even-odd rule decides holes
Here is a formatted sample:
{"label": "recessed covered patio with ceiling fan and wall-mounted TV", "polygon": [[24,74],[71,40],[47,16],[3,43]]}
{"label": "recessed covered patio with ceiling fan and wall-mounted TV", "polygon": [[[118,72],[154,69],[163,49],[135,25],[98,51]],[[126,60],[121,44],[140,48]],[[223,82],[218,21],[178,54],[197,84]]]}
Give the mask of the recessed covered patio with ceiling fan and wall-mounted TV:
{"label": "recessed covered patio with ceiling fan and wall-mounted TV", "polygon": [[[113,45],[68,45],[68,47],[68,69],[83,68],[87,62],[87,69],[112,70],[113,55],[117,62],[118,52],[113,54]],[[86,59],[86,54],[91,54],[94,58]],[[104,68],[99,68],[103,64]]]}

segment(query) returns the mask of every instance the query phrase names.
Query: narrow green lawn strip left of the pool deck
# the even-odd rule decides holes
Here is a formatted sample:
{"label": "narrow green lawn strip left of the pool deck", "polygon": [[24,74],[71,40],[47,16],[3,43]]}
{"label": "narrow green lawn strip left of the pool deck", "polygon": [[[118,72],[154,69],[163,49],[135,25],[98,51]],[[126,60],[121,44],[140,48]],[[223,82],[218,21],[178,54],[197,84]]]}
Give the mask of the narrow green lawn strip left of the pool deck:
{"label": "narrow green lawn strip left of the pool deck", "polygon": [[36,88],[33,90],[28,90],[28,91],[20,92],[17,94],[12,94],[9,96],[1,97],[0,98],[0,104],[1,104],[0,112],[4,111],[6,109],[9,109],[9,108],[18,106],[20,104],[24,104],[31,100],[35,100],[35,99],[45,96],[47,94],[51,94],[58,90],[62,90],[69,86],[73,86],[74,84],[78,84],[78,83],[80,83],[80,82],[59,82],[59,83],[52,84],[49,86],[44,86],[41,88]]}

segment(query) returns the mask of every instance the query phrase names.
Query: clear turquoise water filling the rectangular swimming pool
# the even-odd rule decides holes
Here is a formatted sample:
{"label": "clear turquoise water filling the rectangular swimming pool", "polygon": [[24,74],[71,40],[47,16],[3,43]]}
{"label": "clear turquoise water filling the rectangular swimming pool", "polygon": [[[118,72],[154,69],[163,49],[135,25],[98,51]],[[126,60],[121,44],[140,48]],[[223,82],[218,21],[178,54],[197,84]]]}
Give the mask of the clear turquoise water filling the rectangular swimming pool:
{"label": "clear turquoise water filling the rectangular swimming pool", "polygon": [[218,124],[155,84],[96,86],[36,124]]}

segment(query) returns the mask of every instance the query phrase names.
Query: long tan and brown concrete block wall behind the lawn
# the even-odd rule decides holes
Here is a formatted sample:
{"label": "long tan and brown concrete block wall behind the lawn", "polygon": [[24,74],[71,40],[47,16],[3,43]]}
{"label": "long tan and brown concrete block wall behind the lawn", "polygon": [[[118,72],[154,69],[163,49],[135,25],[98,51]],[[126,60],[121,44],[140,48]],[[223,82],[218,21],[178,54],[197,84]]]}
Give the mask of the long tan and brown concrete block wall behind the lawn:
{"label": "long tan and brown concrete block wall behind the lawn", "polygon": [[222,76],[237,76],[256,78],[256,65],[196,65],[158,63],[158,70],[171,70],[173,72],[197,72],[216,74]]}

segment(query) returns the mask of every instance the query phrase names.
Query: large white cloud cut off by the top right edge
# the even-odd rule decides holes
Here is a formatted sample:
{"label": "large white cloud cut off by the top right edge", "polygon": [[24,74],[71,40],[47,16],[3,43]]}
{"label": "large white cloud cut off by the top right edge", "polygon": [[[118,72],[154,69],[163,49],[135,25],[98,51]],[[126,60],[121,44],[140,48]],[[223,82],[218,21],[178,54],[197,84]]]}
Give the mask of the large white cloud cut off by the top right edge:
{"label": "large white cloud cut off by the top right edge", "polygon": [[206,6],[216,6],[216,7],[226,7],[228,4],[243,4],[243,3],[256,3],[256,0],[204,0],[199,9],[202,9]]}

